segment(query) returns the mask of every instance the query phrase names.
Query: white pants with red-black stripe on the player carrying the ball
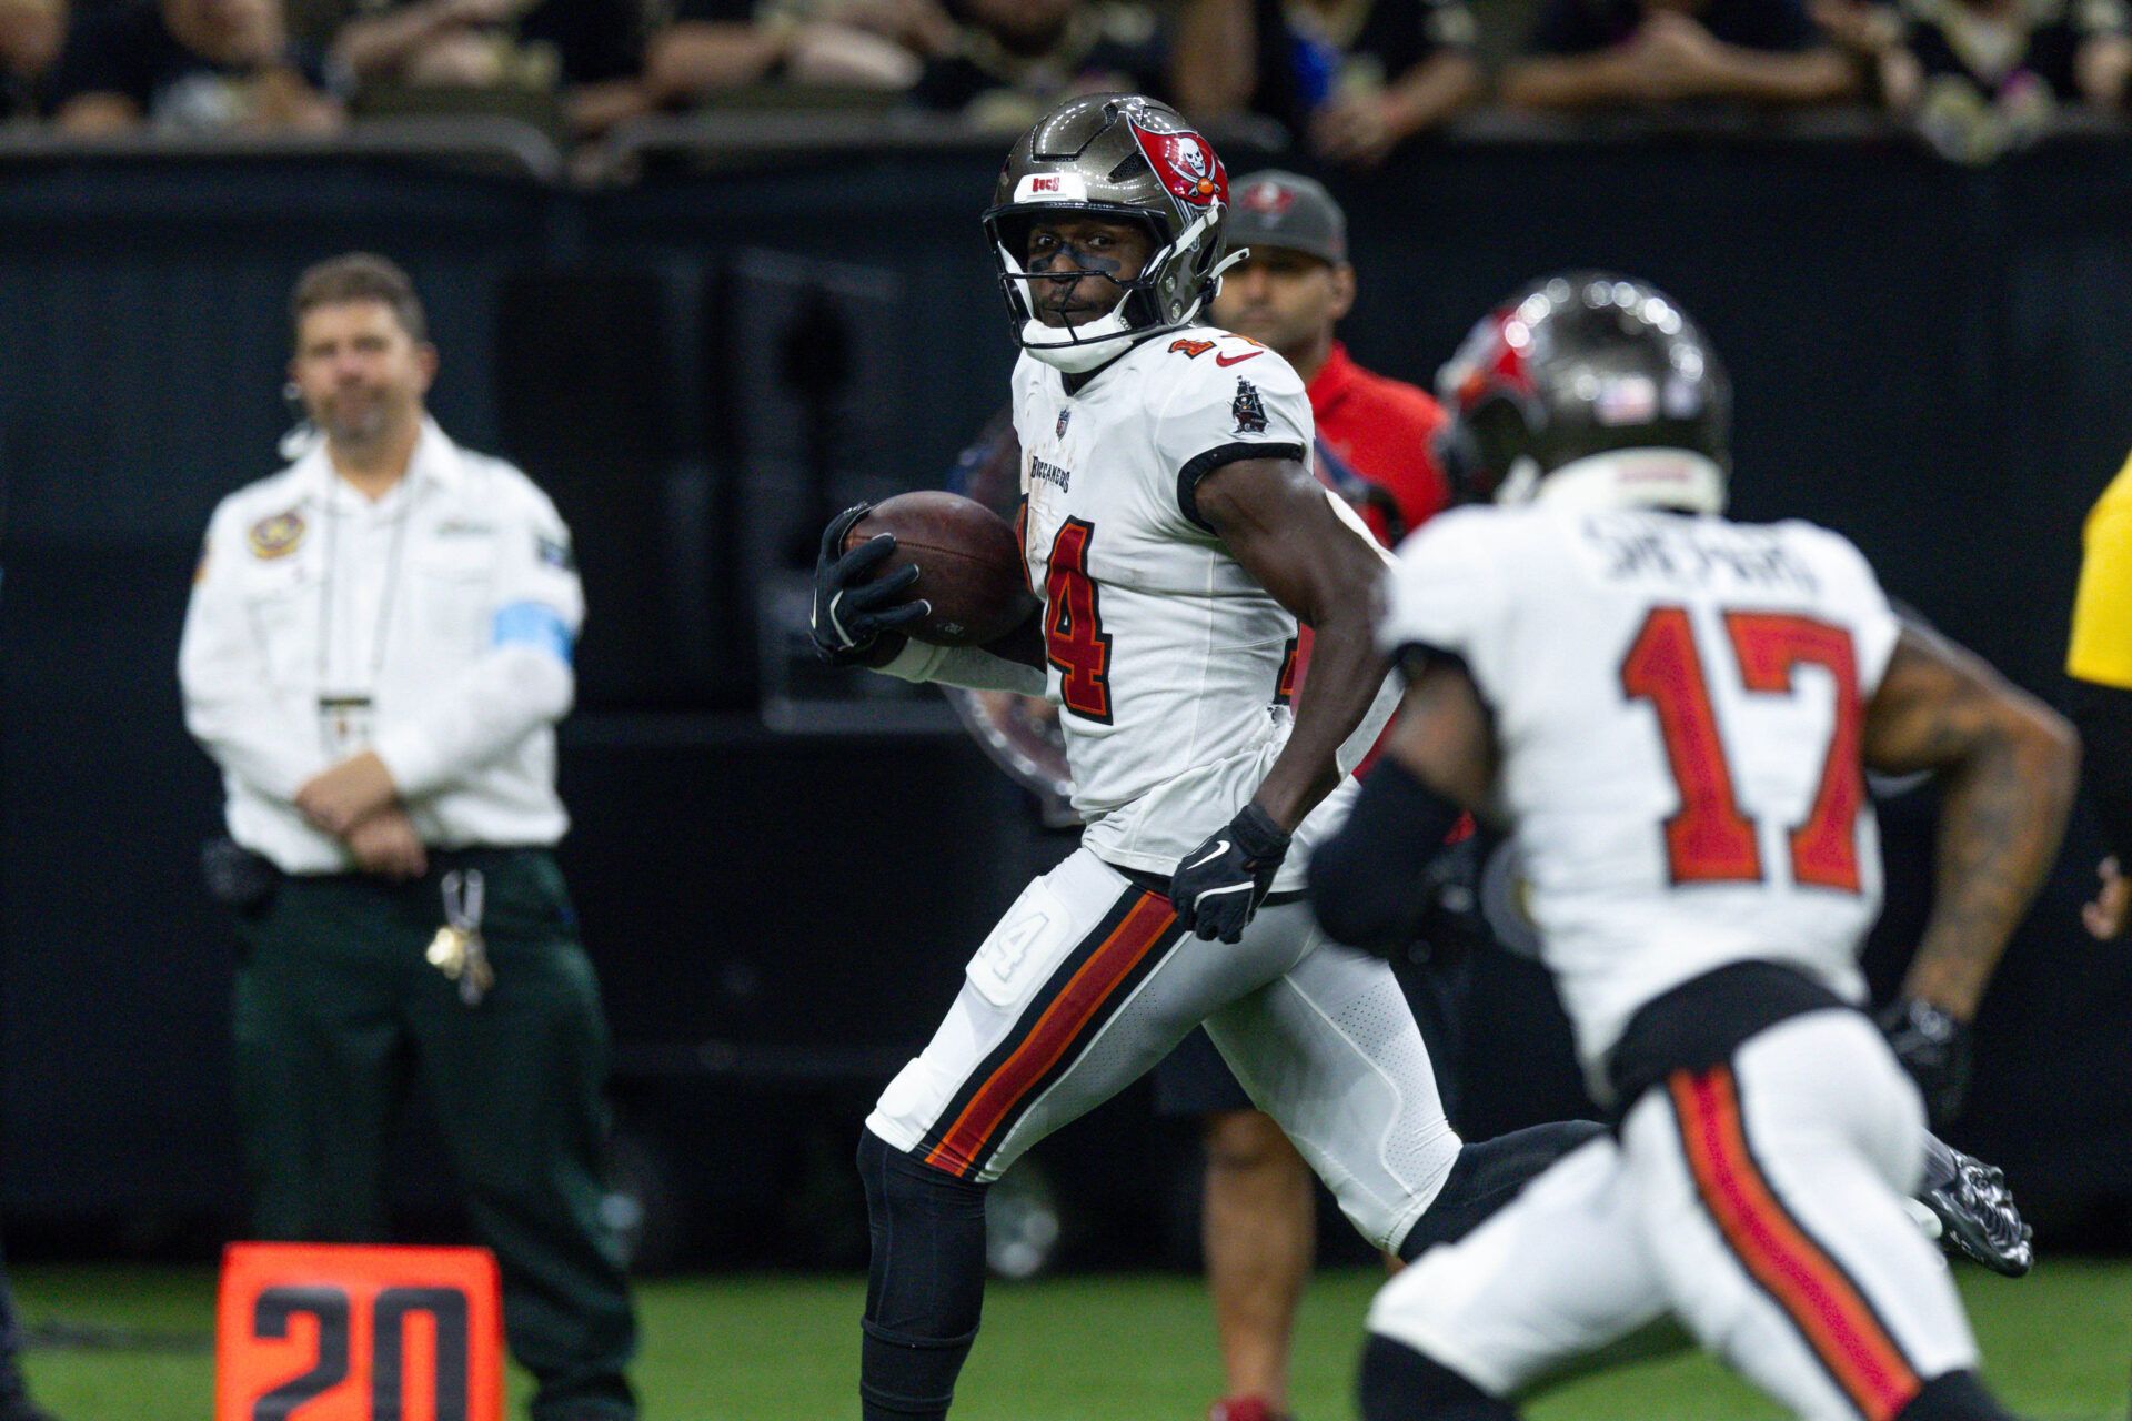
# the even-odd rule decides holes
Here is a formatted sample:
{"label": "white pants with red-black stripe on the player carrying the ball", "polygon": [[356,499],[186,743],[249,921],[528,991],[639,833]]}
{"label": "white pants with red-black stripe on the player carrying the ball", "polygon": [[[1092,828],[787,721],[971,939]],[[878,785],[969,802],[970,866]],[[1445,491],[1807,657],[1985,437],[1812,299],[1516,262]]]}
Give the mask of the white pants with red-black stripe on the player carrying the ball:
{"label": "white pants with red-black stripe on the player carrying the ball", "polygon": [[1394,1251],[1458,1136],[1392,969],[1326,940],[1301,901],[1260,908],[1241,944],[1200,942],[1085,848],[1006,910],[866,1127],[991,1182],[1200,1023],[1362,1236]]}

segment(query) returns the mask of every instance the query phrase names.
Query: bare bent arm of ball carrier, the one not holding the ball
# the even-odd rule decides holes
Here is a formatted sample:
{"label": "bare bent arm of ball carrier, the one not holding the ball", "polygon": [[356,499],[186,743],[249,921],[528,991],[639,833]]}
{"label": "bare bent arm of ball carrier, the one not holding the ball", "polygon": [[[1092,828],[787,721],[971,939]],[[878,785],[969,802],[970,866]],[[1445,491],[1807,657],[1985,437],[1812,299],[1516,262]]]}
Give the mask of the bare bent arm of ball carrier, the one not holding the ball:
{"label": "bare bent arm of ball carrier, the one not holding the ball", "polygon": [[1281,831],[1294,831],[1339,784],[1335,756],[1384,684],[1386,665],[1371,641],[1384,552],[1292,458],[1222,464],[1198,481],[1194,501],[1243,571],[1311,628],[1296,726],[1251,799]]}

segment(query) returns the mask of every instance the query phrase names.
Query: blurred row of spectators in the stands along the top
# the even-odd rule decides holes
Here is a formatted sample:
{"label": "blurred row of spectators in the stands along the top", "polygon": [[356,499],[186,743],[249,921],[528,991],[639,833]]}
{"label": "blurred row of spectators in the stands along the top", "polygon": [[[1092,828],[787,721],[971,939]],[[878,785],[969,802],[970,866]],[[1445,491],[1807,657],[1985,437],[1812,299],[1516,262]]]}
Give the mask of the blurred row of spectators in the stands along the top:
{"label": "blurred row of spectators in the stands along the top", "polygon": [[1356,168],[1475,109],[1844,107],[1989,162],[2121,113],[2128,72],[2123,0],[0,0],[6,119],[85,136],[475,113],[586,141],[706,107],[1006,134],[1138,89]]}

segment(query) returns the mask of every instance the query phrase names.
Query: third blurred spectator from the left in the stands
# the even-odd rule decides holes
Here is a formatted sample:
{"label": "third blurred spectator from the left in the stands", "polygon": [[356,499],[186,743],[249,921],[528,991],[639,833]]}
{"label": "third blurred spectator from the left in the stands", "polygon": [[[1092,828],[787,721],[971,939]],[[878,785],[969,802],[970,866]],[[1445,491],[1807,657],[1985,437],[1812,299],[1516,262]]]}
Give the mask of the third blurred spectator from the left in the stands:
{"label": "third blurred spectator from the left in the stands", "polygon": [[554,94],[571,130],[652,107],[644,0],[354,0],[333,58],[365,89]]}

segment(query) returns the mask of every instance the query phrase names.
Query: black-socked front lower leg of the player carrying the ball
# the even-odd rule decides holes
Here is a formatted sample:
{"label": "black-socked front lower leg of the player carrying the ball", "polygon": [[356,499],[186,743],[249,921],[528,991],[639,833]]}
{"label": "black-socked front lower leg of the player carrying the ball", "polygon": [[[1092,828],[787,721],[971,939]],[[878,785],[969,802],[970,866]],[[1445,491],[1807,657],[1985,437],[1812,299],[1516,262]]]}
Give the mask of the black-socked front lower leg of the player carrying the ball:
{"label": "black-socked front lower leg of the player carrying the ball", "polygon": [[985,1302],[985,1185],[859,1131],[874,1257],[859,1323],[866,1421],[947,1417]]}

